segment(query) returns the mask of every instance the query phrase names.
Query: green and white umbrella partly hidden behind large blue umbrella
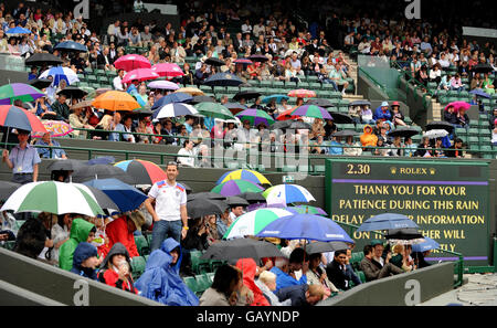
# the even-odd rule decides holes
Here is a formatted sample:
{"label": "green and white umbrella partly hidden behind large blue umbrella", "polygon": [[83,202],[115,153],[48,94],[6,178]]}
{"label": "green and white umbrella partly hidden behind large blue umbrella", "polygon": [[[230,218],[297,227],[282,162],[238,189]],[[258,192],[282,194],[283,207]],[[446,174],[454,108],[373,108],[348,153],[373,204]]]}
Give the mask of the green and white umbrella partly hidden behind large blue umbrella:
{"label": "green and white umbrella partly hidden behind large blue umbrella", "polygon": [[271,222],[293,214],[293,212],[284,209],[258,209],[242,214],[230,225],[223,239],[231,240],[256,235]]}

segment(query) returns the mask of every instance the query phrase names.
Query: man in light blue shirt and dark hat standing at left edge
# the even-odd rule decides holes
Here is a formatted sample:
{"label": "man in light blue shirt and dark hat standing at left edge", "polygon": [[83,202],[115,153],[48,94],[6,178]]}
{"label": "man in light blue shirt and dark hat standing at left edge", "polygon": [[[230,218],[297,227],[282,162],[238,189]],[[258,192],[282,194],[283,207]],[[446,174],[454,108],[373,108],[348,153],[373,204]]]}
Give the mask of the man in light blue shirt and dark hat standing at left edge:
{"label": "man in light blue shirt and dark hat standing at left edge", "polygon": [[12,182],[25,184],[38,181],[40,156],[33,146],[28,145],[30,133],[18,129],[19,145],[14,146],[12,150],[3,149],[2,161],[7,162],[12,169]]}

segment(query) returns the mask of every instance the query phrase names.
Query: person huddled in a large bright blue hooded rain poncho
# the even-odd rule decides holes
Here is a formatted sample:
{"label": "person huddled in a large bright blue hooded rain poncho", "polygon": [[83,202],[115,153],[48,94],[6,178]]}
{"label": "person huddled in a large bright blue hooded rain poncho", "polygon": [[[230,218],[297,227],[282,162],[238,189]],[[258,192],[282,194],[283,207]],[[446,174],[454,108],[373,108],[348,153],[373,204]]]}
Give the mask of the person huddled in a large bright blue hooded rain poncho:
{"label": "person huddled in a large bright blue hooded rain poncho", "polygon": [[198,306],[199,298],[179,276],[181,260],[180,244],[171,237],[163,241],[150,254],[144,274],[136,282],[140,295],[169,306]]}

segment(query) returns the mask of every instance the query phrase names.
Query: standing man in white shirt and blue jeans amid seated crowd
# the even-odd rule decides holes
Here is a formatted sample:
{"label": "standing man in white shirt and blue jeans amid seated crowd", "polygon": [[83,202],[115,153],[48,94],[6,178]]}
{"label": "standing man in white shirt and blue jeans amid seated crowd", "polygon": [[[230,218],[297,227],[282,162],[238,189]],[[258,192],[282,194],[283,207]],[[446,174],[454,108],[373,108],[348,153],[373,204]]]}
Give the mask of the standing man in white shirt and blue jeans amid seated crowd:
{"label": "standing man in white shirt and blue jeans amid seated crowd", "polygon": [[[178,163],[168,162],[166,174],[167,180],[156,182],[145,201],[145,207],[154,219],[150,252],[159,248],[167,237],[180,242],[187,236],[187,191],[183,186],[176,182],[179,174]],[[156,201],[155,209],[151,204],[154,201]]]}

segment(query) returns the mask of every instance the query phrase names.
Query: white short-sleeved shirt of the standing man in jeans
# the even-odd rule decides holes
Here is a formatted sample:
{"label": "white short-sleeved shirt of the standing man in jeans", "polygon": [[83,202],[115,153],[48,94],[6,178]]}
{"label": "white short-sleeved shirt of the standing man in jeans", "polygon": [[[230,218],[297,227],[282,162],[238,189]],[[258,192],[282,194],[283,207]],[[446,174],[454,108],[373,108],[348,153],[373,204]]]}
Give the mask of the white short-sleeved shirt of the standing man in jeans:
{"label": "white short-sleeved shirt of the standing man in jeans", "polygon": [[187,191],[181,184],[169,186],[166,180],[156,182],[148,195],[156,200],[156,213],[160,220],[181,220],[181,205],[187,204]]}

